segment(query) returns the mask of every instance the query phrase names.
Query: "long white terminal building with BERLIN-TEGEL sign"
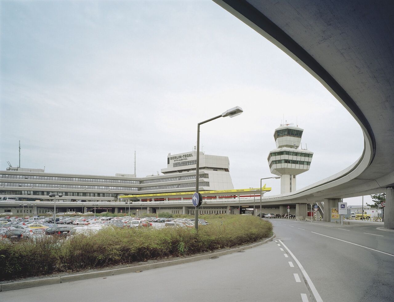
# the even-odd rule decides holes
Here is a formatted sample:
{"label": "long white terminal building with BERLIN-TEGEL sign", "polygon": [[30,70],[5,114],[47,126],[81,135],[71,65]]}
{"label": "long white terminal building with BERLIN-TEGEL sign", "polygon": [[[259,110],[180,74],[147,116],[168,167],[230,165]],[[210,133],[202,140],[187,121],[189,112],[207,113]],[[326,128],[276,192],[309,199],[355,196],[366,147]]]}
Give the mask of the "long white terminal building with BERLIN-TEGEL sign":
{"label": "long white terminal building with BERLIN-TEGEL sign", "polygon": [[[46,173],[43,169],[9,167],[0,171],[0,199],[49,201],[49,194],[63,194],[58,201],[118,201],[119,196],[194,192],[197,151],[168,154],[162,175],[137,177]],[[199,190],[231,190],[230,162],[225,156],[200,152]],[[142,199],[150,201],[149,199]],[[0,208],[4,213],[5,208]]]}

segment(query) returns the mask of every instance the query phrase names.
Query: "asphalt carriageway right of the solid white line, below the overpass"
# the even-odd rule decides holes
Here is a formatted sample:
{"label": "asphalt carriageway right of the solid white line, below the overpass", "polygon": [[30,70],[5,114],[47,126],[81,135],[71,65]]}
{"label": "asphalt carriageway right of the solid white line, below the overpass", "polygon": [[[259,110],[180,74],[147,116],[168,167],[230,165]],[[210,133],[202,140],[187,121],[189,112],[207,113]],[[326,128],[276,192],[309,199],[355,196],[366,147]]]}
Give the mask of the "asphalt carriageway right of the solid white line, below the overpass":
{"label": "asphalt carriageway right of the solid white line, below the overpass", "polygon": [[270,220],[297,255],[323,301],[392,301],[394,232],[381,224]]}

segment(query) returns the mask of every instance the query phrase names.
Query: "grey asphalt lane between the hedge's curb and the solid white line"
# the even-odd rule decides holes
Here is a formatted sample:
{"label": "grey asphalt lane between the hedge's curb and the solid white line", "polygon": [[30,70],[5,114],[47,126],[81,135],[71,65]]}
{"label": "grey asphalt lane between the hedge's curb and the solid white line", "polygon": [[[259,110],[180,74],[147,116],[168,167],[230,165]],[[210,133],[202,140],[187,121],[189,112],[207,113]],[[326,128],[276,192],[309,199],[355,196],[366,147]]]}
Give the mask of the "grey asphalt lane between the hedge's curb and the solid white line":
{"label": "grey asphalt lane between the hedge's curb and the solid white line", "polygon": [[0,300],[311,302],[301,270],[276,241],[215,259],[0,292]]}

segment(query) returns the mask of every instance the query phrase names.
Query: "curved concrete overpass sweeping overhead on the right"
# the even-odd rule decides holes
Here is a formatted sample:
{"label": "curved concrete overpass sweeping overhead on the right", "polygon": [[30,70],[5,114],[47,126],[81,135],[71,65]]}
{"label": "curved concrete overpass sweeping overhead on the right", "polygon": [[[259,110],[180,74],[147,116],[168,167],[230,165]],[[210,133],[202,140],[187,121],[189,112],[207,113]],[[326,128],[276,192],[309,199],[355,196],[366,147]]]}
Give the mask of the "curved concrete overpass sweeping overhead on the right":
{"label": "curved concrete overpass sweeping overhead on the right", "polygon": [[[323,202],[386,192],[394,229],[394,6],[391,1],[214,0],[296,60],[350,112],[364,151],[348,168],[264,201]],[[327,211],[328,212],[328,211]]]}

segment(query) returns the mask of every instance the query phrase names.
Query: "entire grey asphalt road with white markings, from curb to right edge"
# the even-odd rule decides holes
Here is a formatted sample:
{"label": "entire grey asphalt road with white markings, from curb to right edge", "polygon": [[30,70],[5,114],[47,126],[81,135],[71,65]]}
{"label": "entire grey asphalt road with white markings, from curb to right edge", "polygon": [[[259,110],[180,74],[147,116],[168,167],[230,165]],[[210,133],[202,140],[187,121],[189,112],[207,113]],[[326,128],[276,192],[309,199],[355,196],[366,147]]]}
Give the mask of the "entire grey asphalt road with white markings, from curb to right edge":
{"label": "entire grey asphalt road with white markings, from curb to right edge", "polygon": [[[393,301],[394,232],[270,220],[274,241],[215,259],[0,293],[0,301]],[[57,297],[57,298],[56,298]]]}

